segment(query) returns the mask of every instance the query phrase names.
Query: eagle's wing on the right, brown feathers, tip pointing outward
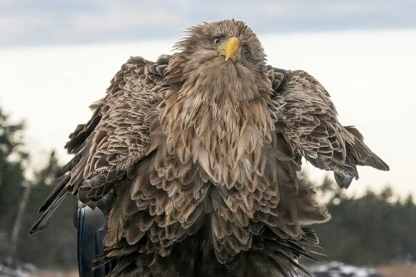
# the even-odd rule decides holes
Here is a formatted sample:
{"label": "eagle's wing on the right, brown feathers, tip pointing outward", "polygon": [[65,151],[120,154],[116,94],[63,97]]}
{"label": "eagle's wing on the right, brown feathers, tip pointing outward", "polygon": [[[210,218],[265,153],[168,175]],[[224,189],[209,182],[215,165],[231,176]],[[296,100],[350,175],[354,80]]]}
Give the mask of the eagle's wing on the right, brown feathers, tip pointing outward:
{"label": "eagle's wing on the right, brown feathers, tip pointing outward", "polygon": [[[272,83],[281,78],[281,71],[269,71]],[[279,87],[270,112],[280,121],[276,128],[290,142],[293,152],[302,154],[313,166],[335,172],[342,188],[358,179],[356,166],[389,170],[363,143],[363,135],[355,127],[338,122],[336,109],[322,84],[304,71],[288,71],[285,76],[288,82]]]}

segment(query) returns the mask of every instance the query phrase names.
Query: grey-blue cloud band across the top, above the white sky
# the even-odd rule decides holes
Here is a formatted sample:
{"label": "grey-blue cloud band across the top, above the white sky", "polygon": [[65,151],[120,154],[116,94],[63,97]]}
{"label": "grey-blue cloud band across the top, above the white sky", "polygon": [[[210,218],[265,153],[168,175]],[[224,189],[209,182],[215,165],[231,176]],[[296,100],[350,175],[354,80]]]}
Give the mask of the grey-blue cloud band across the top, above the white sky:
{"label": "grey-blue cloud band across the top, above the white sky", "polygon": [[416,27],[415,0],[0,0],[0,46],[177,38],[241,19],[259,34]]}

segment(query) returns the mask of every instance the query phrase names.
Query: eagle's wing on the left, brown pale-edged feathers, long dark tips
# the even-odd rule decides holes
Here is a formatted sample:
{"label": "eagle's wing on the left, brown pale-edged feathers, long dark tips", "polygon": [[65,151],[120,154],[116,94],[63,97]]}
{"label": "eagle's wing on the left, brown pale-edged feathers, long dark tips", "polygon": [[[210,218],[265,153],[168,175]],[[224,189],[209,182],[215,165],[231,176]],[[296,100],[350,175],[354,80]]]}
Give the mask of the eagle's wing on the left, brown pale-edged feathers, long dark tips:
{"label": "eagle's wing on the left, brown pale-edged feathers, long dark tips", "polygon": [[46,226],[57,206],[69,194],[94,208],[115,184],[128,179],[150,143],[148,109],[163,91],[164,69],[170,56],[155,63],[131,57],[111,81],[106,96],[95,102],[92,118],[78,125],[66,148],[73,159],[62,168],[62,181],[40,207],[43,215],[30,233]]}

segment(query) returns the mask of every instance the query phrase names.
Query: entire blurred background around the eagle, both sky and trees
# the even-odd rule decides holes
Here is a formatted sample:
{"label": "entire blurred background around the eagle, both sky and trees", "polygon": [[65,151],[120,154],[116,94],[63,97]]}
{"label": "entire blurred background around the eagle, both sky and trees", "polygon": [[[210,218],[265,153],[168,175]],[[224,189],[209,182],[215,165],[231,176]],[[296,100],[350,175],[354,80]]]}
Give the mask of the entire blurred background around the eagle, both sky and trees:
{"label": "entire blurred background around the eagle, both sky and trees", "polygon": [[360,168],[341,191],[305,164],[333,216],[315,227],[320,259],[351,265],[311,265],[315,275],[416,276],[415,15],[413,0],[0,0],[0,276],[76,276],[74,201],[28,236],[69,159],[67,136],[130,55],[154,60],[187,27],[231,18],[258,34],[270,64],[317,78],[391,168]]}

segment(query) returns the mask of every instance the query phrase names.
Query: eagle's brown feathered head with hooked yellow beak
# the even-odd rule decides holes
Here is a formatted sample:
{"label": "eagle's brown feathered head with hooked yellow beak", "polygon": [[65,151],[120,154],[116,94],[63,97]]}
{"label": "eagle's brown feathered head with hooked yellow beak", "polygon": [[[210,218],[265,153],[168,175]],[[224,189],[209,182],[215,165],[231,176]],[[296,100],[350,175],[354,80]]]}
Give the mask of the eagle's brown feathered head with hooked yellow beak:
{"label": "eagle's brown feathered head with hooked yellow beak", "polygon": [[[257,35],[234,19],[204,23],[187,30],[168,66],[168,82],[202,93],[210,101],[247,104],[270,95],[266,55]],[[208,100],[208,99],[207,99]]]}

